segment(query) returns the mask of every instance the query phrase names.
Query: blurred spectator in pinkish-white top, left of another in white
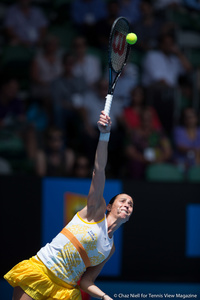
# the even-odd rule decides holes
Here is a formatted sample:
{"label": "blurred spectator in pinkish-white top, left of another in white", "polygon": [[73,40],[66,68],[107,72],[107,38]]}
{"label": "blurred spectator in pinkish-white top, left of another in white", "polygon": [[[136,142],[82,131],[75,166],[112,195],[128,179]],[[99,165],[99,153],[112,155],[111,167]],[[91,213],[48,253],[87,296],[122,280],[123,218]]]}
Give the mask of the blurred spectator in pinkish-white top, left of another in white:
{"label": "blurred spectator in pinkish-white top, left of another in white", "polygon": [[57,37],[48,35],[31,64],[33,98],[50,98],[50,84],[62,73],[62,53]]}

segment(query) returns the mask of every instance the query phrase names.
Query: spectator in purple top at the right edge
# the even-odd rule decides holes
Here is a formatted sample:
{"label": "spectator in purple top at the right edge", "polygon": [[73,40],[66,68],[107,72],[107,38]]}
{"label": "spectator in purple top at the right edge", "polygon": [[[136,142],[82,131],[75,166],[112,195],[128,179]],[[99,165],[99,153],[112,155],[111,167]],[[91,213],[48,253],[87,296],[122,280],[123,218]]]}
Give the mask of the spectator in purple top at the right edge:
{"label": "spectator in purple top at the right edge", "polygon": [[193,108],[183,109],[181,119],[180,126],[173,131],[175,163],[187,171],[191,166],[200,164],[200,127]]}

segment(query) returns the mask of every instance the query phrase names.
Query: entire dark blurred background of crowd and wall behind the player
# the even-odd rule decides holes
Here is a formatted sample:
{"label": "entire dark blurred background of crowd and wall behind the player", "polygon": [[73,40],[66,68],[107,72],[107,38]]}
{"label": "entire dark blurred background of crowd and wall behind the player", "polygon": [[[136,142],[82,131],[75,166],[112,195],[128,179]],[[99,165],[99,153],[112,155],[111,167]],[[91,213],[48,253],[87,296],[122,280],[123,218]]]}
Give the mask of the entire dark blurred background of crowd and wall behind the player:
{"label": "entire dark blurred background of crowd and wall behind the player", "polygon": [[199,1],[2,0],[3,300],[3,275],[85,204],[119,16],[138,41],[115,89],[105,199],[125,191],[135,211],[98,283],[113,298],[200,299]]}

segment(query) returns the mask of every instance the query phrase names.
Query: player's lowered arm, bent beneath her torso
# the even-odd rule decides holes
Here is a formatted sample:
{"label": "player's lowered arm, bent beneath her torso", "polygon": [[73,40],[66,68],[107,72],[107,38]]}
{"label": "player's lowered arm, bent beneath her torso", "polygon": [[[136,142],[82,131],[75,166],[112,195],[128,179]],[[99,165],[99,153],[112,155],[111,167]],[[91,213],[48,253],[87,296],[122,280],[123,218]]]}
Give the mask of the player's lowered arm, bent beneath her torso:
{"label": "player's lowered arm, bent beneath her torso", "polygon": [[83,274],[81,278],[80,288],[94,298],[102,299],[102,297],[105,295],[103,297],[104,300],[112,299],[110,296],[106,295],[100,288],[98,288],[98,286],[96,286],[94,282],[97,276],[100,274],[101,270],[103,269],[103,266],[111,258],[114,252],[115,252],[115,246],[113,244],[113,247],[107,259],[95,267],[87,268],[86,272]]}

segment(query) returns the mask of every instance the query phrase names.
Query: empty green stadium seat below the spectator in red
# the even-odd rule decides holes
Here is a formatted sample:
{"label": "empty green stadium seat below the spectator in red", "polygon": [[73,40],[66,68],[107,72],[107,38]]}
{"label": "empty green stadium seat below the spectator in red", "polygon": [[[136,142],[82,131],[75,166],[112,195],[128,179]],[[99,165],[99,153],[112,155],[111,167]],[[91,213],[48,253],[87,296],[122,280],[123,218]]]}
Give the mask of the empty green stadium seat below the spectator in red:
{"label": "empty green stadium seat below the spectator in red", "polygon": [[168,181],[181,182],[184,176],[181,171],[172,164],[154,164],[146,169],[146,179],[148,181]]}

